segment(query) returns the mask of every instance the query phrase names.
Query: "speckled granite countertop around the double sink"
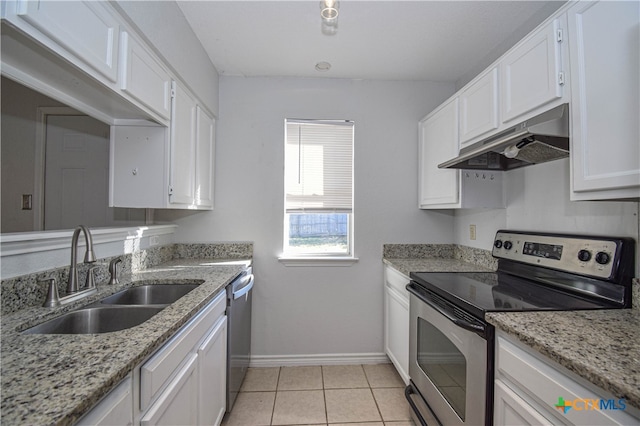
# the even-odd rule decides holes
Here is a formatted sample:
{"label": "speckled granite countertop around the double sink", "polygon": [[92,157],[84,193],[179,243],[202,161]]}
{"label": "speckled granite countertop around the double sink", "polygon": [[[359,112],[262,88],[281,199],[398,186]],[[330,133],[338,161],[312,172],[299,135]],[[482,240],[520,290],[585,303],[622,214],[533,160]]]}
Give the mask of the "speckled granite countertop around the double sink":
{"label": "speckled granite countertop around the double sink", "polygon": [[[27,308],[2,317],[4,424],[76,422],[132,369],[229,284],[250,261],[179,259],[121,277],[117,286],[60,308]],[[143,324],[111,333],[25,335],[20,332],[123,288],[201,282]]]}

